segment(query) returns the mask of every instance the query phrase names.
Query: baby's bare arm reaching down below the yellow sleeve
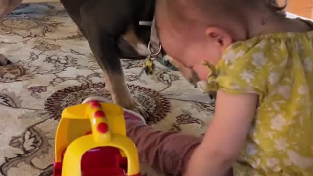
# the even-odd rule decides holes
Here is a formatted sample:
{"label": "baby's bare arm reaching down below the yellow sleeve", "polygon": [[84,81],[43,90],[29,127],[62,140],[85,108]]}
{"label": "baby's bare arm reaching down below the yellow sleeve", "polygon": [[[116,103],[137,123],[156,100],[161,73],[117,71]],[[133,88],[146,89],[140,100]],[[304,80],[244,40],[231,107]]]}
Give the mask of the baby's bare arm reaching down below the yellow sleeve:
{"label": "baby's bare arm reaching down below the yellow sleeve", "polygon": [[192,154],[184,176],[224,176],[244,147],[257,103],[256,94],[219,90],[212,124]]}

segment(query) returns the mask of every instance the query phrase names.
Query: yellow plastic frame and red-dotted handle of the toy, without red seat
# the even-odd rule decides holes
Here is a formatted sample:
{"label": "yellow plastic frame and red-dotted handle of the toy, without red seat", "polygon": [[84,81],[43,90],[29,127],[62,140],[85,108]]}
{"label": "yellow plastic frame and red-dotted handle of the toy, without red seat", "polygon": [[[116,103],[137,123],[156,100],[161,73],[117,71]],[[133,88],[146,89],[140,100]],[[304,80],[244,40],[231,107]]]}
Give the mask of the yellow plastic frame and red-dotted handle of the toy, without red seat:
{"label": "yellow plastic frame and red-dotted handle of the toy, without red seat", "polygon": [[[83,123],[75,129],[69,129],[71,120],[83,120]],[[86,123],[88,121],[89,127]],[[77,134],[79,129],[90,127],[92,135]],[[83,154],[105,146],[118,148],[125,154],[128,160],[128,176],[140,173],[137,148],[126,136],[124,111],[116,104],[91,101],[66,108],[62,112],[55,141],[56,162],[61,162],[62,150],[68,146],[62,161],[62,176],[81,176],[80,162]]]}

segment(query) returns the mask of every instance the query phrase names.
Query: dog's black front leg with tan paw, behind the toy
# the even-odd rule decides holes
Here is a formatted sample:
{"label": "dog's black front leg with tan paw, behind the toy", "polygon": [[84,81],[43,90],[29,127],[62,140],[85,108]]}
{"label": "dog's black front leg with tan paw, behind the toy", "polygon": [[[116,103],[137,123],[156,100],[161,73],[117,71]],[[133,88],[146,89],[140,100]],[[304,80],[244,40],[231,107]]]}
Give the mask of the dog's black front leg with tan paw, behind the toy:
{"label": "dog's black front leg with tan paw, behind the toy", "polygon": [[[119,4],[119,5],[116,5]],[[131,96],[118,58],[119,38],[130,25],[129,0],[91,0],[81,7],[81,27],[90,48],[104,71],[107,88],[115,103],[147,117],[147,111]]]}

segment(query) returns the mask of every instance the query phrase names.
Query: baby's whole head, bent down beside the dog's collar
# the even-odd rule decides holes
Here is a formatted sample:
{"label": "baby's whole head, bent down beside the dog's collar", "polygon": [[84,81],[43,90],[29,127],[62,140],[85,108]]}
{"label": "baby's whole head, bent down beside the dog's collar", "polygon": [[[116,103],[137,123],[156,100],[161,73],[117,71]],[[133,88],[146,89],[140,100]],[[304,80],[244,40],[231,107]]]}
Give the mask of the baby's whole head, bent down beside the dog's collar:
{"label": "baby's whole head, bent down beside the dog's collar", "polygon": [[248,39],[251,26],[276,11],[272,1],[157,0],[156,28],[165,51],[205,80],[203,62],[216,64],[230,44]]}

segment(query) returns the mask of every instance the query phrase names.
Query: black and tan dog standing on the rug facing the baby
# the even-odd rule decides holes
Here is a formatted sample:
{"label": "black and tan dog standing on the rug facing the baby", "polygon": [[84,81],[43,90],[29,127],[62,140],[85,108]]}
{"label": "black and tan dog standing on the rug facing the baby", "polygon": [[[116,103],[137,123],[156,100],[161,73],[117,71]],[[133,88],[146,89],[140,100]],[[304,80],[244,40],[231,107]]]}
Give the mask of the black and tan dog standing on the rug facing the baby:
{"label": "black and tan dog standing on the rug facing the baby", "polygon": [[[6,5],[2,15],[17,7],[22,0],[0,0]],[[147,45],[151,37],[151,26],[140,22],[152,22],[156,0],[60,0],[65,10],[87,39],[90,49],[101,66],[106,89],[114,103],[139,112],[144,117],[147,111],[134,100],[126,85],[119,58],[144,59],[149,54]],[[1,7],[1,6],[0,6]],[[12,9],[13,8],[13,9]],[[162,55],[165,51],[162,50]],[[2,63],[9,64],[1,55]],[[192,72],[169,58],[191,82],[196,78]]]}

